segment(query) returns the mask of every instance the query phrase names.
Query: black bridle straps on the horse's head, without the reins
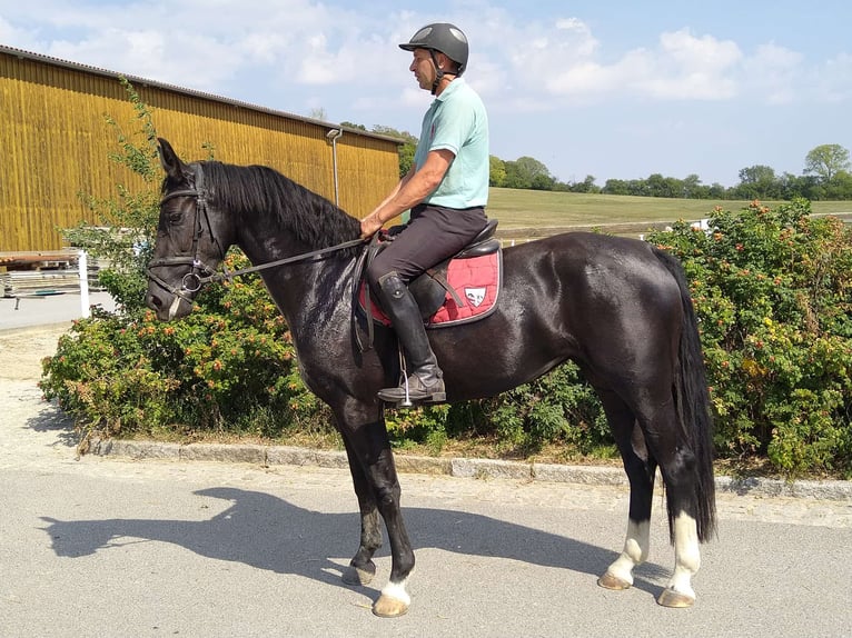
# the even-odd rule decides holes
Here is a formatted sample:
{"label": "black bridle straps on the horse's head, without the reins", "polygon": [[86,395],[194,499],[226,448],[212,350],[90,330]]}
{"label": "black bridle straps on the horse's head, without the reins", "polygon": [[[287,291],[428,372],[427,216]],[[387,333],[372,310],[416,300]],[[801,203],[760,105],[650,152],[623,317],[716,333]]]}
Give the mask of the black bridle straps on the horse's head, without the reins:
{"label": "black bridle straps on the horse's head, without the reins", "polygon": [[[195,167],[195,188],[176,190],[168,193],[160,200],[160,206],[178,197],[195,197],[196,198],[196,215],[192,222],[192,247],[190,252],[184,255],[176,255],[174,257],[162,257],[160,259],[152,259],[148,265],[148,279],[155,281],[160,288],[171,292],[176,297],[192,302],[189,295],[195,295],[201,289],[207,281],[210,281],[216,275],[216,269],[210,268],[204,261],[198,258],[198,247],[204,235],[204,225],[207,225],[207,230],[210,233],[210,239],[219,248],[219,256],[224,259],[225,253],[221,249],[219,240],[212,233],[212,226],[210,225],[210,216],[207,210],[207,188],[205,188],[205,173],[201,169],[201,165]],[[180,280],[180,288],[176,288],[165,281],[162,278],[155,275],[153,268],[170,266],[191,266],[192,270],[187,272]]]}

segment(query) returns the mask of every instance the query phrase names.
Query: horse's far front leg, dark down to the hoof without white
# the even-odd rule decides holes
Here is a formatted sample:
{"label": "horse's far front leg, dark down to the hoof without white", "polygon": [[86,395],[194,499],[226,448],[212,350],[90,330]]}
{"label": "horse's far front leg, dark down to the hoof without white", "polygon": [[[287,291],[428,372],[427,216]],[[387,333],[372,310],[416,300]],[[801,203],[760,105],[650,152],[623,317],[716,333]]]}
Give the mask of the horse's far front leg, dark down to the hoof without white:
{"label": "horse's far front leg, dark down to the hoof without white", "polygon": [[376,496],[373,494],[364,466],[349,441],[349,432],[340,429],[346,455],[349,459],[349,471],[353,476],[355,495],[358,497],[360,509],[360,544],[358,551],[349,561],[349,567],[343,574],[343,580],[347,585],[369,585],[376,576],[376,564],[373,555],[382,547],[382,529],[378,525],[378,508]]}

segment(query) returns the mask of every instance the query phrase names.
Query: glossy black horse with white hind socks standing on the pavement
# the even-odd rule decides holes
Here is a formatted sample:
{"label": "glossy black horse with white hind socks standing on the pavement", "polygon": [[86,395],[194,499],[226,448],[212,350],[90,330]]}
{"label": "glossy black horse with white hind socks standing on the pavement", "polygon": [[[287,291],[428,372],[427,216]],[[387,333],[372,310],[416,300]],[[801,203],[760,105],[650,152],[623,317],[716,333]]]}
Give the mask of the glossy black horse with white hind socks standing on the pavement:
{"label": "glossy black horse with white hind socks standing on the pavement", "polygon": [[[360,544],[344,580],[374,577],[380,514],[393,564],[373,610],[405,614],[414,552],[376,397],[398,379],[398,350],[393,331],[380,327],[373,349],[357,347],[355,331],[364,325],[353,322],[351,285],[360,249],[334,250],[358,238],[358,220],[273,169],[187,165],[159,142],[167,175],[148,306],[162,320],[188,315],[232,245],[256,266],[288,262],[261,275],[287,320],[305,382],[334,411],[360,509]],[[495,312],[429,331],[447,400],[492,397],[576,361],[601,398],[631,486],[624,550],[598,582],[625,589],[646,559],[658,467],[675,547],[674,572],[658,602],[692,605],[699,544],[715,530],[715,494],[707,387],[680,265],[646,242],[583,232],[507,248],[503,261]]]}

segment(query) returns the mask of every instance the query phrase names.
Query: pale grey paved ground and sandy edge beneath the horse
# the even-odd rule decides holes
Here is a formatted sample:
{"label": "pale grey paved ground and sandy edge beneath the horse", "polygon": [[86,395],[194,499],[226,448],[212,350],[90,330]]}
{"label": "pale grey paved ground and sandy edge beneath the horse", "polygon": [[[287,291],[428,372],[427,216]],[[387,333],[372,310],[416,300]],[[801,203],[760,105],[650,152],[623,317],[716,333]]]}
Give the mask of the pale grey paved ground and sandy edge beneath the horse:
{"label": "pale grey paved ground and sandy edge beneath the horse", "polygon": [[720,494],[699,602],[670,610],[654,602],[673,560],[662,497],[650,562],[632,590],[612,592],[595,578],[622,542],[623,486],[582,468],[575,480],[592,485],[492,478],[494,466],[469,460],[456,472],[478,478],[403,475],[413,607],[376,619],[387,551],[375,586],[339,581],[357,545],[347,470],[268,448],[262,462],[179,447],[158,448],[167,460],[77,460],[68,419],[36,386],[68,327],[53,323],[0,332],[0,636],[852,635],[841,481],[784,492],[799,498],[772,485]]}

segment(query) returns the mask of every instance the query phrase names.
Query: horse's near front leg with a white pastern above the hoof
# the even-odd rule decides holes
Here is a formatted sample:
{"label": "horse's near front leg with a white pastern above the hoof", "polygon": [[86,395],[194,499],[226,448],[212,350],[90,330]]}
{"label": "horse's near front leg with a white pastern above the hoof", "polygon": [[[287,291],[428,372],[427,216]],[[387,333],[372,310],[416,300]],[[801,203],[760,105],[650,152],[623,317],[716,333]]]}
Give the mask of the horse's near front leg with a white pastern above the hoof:
{"label": "horse's near front leg with a white pastern above the hoof", "polygon": [[[379,418],[378,421],[365,423],[361,426],[348,427],[344,421],[340,422],[345,428],[348,439],[347,449],[351,456],[360,462],[366,482],[373,494],[373,499],[378,508],[382,518],[385,520],[388,540],[390,542],[390,579],[382,595],[373,606],[373,612],[376,616],[392,618],[402,616],[408,611],[410,597],[406,588],[408,576],[414,570],[414,551],[408,540],[408,532],[405,529],[403,514],[399,509],[399,481],[396,475],[396,466],[390,451],[390,441],[385,428],[385,421]],[[355,470],[353,470],[355,475]],[[357,489],[357,488],[356,488]],[[359,497],[360,499],[360,497]],[[361,509],[361,525],[367,527],[371,534],[374,519],[370,511],[365,514]],[[377,526],[376,526],[377,531]],[[364,539],[364,530],[361,530]],[[369,546],[361,540],[361,549],[365,555],[370,554]],[[360,555],[359,549],[359,555]],[[356,555],[356,559],[363,560],[364,556]],[[354,561],[356,559],[353,559]],[[371,561],[368,561],[371,562]],[[364,565],[364,562],[361,562]]]}

